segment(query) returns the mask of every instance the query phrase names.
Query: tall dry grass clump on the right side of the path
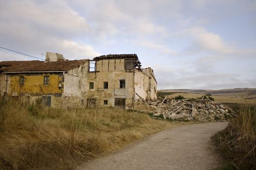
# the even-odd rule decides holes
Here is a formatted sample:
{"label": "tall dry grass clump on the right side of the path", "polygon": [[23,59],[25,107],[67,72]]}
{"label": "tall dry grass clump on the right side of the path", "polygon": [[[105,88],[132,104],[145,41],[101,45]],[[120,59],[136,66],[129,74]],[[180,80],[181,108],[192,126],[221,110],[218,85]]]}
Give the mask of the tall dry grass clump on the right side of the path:
{"label": "tall dry grass clump on the right side of the path", "polygon": [[256,107],[242,107],[238,116],[213,139],[234,169],[256,170]]}

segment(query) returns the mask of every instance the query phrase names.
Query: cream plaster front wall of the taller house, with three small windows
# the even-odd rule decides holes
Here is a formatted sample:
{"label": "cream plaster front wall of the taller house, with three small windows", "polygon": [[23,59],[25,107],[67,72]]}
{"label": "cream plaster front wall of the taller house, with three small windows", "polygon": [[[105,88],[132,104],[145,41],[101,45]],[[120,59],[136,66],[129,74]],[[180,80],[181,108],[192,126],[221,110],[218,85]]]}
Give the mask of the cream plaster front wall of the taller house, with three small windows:
{"label": "cream plaster front wall of the taller house, with three small windows", "polygon": [[[96,62],[96,72],[89,72],[87,79],[87,98],[97,99],[98,105],[115,105],[115,98],[126,99],[126,108],[132,108],[134,86],[133,72],[124,70],[124,59],[100,60]],[[125,88],[120,88],[119,80],[125,80]],[[94,89],[89,89],[89,83],[94,83]],[[108,82],[108,88],[103,88],[103,82]],[[87,101],[86,101],[87,102]]]}

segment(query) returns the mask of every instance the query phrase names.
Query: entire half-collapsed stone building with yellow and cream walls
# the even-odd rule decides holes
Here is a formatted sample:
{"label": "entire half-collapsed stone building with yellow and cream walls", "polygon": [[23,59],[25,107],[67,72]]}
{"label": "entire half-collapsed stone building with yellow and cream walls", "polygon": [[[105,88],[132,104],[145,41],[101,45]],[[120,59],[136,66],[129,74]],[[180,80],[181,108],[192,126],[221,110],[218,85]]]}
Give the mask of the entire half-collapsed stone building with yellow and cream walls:
{"label": "entire half-collapsed stone building with yellow and cream walls", "polygon": [[133,108],[141,98],[157,98],[151,68],[141,68],[136,54],[102,55],[94,60],[65,60],[46,54],[46,61],[0,62],[0,96],[48,106],[120,106]]}

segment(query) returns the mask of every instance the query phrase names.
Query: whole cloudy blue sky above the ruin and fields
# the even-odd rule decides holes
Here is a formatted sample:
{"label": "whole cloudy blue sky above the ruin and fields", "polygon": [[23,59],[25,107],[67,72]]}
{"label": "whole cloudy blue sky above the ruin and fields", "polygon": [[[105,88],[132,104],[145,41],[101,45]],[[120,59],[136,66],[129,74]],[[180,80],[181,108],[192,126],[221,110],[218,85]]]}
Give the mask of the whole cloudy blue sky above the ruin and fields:
{"label": "whole cloudy blue sky above the ruin and fields", "polygon": [[[158,89],[256,87],[256,0],[0,0],[0,47],[136,53]],[[0,61],[34,60],[0,49]]]}

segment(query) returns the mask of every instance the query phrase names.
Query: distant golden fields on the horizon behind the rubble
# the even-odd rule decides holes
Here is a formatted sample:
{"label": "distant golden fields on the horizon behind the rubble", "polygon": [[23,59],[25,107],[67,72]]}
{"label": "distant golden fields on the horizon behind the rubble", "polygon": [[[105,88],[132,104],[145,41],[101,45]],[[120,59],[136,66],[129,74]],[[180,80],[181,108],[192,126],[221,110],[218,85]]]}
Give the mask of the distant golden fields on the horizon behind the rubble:
{"label": "distant golden fields on the horizon behind the rubble", "polygon": [[205,94],[211,94],[216,102],[256,104],[256,88],[236,88],[222,90],[189,90],[189,89],[169,89],[159,90],[158,94],[174,98],[181,95],[185,98],[199,98]]}

